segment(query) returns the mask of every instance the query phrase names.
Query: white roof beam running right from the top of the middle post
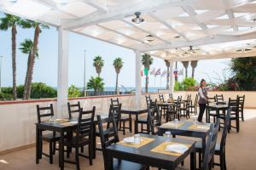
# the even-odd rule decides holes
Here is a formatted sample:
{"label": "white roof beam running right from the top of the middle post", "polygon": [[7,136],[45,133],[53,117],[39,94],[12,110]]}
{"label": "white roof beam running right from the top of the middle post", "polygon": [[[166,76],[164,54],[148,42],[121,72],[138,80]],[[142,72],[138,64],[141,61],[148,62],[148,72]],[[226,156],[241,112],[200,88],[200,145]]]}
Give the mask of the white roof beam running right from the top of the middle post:
{"label": "white roof beam running right from the top of the middle post", "polygon": [[164,49],[171,49],[171,48],[183,48],[189,46],[200,46],[212,43],[219,43],[219,42],[236,42],[241,40],[249,40],[256,37],[256,32],[244,34],[241,36],[215,36],[213,38],[203,37],[201,39],[197,39],[194,41],[181,41],[175,42],[172,44],[162,43],[160,45],[155,45],[151,48],[143,48],[141,49],[142,52],[154,51],[154,50],[164,50]]}

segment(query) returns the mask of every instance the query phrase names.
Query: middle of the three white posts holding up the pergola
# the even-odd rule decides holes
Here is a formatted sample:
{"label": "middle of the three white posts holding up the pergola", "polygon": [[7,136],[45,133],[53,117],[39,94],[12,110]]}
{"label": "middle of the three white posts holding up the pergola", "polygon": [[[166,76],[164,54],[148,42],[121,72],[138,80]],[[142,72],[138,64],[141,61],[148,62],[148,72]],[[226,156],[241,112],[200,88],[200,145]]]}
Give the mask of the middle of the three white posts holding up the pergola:
{"label": "middle of the three white posts holding up the pergola", "polygon": [[142,95],[142,54],[139,51],[135,51],[136,54],[136,107],[141,108],[141,95]]}

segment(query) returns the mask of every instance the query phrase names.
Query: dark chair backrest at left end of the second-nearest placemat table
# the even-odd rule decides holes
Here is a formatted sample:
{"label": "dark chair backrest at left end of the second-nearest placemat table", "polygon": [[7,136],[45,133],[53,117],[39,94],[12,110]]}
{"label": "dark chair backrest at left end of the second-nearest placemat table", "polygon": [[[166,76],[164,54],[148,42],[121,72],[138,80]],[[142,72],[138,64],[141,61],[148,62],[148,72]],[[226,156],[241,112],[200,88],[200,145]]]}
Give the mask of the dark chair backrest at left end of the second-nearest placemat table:
{"label": "dark chair backrest at left end of the second-nearest placemat table", "polygon": [[158,105],[153,104],[148,109],[148,125],[152,134],[155,134],[154,127],[159,127],[161,125],[161,116]]}

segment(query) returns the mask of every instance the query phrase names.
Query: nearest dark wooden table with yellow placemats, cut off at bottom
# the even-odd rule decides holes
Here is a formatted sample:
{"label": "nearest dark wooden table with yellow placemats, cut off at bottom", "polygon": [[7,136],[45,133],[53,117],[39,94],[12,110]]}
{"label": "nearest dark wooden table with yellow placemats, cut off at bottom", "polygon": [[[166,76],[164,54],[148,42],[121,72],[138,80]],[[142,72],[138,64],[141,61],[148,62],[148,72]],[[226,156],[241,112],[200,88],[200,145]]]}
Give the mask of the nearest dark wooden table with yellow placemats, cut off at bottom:
{"label": "nearest dark wooden table with yellow placemats, cut off at bottom", "polygon": [[189,150],[184,152],[181,156],[170,156],[152,152],[150,150],[165,142],[165,138],[161,136],[141,134],[141,136],[154,138],[154,141],[140,147],[133,148],[121,144],[113,144],[107,148],[108,155],[108,170],[113,169],[113,158],[132,161],[150,167],[159,167],[163,169],[175,169],[184,159],[190,155],[190,169],[195,169],[195,141],[187,139],[172,139],[173,142],[181,144],[191,144]]}

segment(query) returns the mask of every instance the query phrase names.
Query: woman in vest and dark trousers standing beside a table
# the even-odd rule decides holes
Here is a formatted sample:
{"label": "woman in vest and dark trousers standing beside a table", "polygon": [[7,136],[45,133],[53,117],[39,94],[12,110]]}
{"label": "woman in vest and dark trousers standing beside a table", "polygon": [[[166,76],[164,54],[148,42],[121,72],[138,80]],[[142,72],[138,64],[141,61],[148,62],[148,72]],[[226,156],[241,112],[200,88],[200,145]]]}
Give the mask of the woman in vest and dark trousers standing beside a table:
{"label": "woman in vest and dark trousers standing beside a table", "polygon": [[204,79],[201,79],[200,82],[200,88],[198,89],[198,94],[199,94],[199,100],[198,100],[198,104],[199,104],[199,115],[198,115],[198,122],[201,122],[202,117],[204,115],[204,112],[206,110],[207,107],[207,88],[206,88],[207,82]]}

